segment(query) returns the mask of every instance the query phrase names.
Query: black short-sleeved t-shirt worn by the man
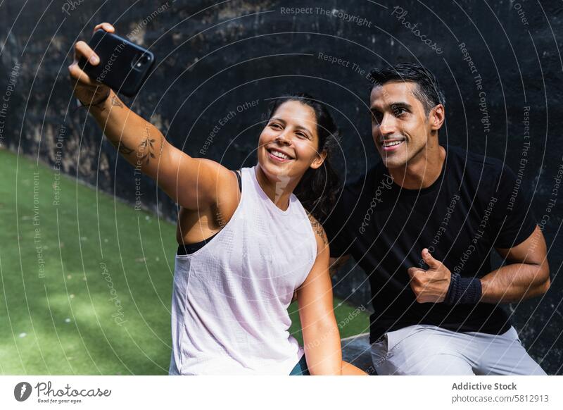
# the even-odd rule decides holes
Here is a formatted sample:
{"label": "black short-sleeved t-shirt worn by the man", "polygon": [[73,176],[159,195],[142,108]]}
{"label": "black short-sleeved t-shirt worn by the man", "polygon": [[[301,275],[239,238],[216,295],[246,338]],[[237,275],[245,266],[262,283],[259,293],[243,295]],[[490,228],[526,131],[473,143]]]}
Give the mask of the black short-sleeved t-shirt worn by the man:
{"label": "black short-sleeved t-shirt worn by the man", "polygon": [[331,256],[351,254],[369,277],[371,342],[415,324],[491,334],[510,328],[498,304],[421,304],[410,288],[407,268],[428,269],[425,247],[452,273],[481,278],[491,272],[495,247],[514,247],[536,228],[529,198],[510,168],[444,148],[441,174],[430,187],[405,190],[379,162],[343,188],[324,225]]}

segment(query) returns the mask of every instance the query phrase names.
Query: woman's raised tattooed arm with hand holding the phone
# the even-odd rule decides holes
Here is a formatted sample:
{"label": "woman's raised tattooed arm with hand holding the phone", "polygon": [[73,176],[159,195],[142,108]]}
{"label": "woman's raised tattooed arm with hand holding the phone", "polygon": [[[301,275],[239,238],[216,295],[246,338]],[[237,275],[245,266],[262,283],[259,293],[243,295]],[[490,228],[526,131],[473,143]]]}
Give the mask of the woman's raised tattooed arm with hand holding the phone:
{"label": "woman's raised tattooed arm with hand holding the phone", "polygon": [[[109,23],[96,30],[115,32]],[[99,58],[85,42],[75,44],[75,61],[68,67],[74,94],[89,105],[103,134],[127,162],[156,180],[158,186],[186,209],[202,209],[217,201],[224,183],[232,183],[232,173],[215,161],[194,159],[169,144],[162,132],[130,110],[106,85],[91,79],[78,66],[81,56],[91,64]]]}

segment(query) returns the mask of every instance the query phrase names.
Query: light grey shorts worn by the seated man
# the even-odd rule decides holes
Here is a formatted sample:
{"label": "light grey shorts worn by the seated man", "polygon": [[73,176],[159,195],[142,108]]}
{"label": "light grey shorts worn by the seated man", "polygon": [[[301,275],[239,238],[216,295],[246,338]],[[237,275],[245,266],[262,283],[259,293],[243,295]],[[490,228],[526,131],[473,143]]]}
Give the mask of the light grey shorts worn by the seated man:
{"label": "light grey shorts worn by the seated man", "polygon": [[412,325],[372,344],[378,375],[545,375],[511,326],[502,335]]}

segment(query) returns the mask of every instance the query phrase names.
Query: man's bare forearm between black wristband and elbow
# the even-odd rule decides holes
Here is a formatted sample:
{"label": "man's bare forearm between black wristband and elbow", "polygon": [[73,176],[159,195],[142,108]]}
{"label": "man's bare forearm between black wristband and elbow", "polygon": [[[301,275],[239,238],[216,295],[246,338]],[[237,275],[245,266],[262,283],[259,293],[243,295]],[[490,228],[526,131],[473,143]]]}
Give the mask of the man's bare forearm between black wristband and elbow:
{"label": "man's bare forearm between black wristband and elbow", "polygon": [[481,278],[481,302],[512,303],[536,297],[550,286],[546,264],[512,263]]}

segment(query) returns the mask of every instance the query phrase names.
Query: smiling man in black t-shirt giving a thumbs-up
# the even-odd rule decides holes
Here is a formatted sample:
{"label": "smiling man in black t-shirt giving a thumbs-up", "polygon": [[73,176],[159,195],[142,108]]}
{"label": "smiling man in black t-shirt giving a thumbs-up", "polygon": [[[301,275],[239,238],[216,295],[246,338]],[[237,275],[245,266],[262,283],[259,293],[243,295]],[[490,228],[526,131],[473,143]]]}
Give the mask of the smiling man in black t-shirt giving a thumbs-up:
{"label": "smiling man in black t-shirt giving a thumbs-up", "polygon": [[[348,183],[325,224],[372,288],[378,374],[545,375],[499,304],[550,286],[529,200],[501,161],[438,143],[445,101],[429,70],[372,71],[372,136],[381,162]],[[491,250],[505,265],[492,270]]]}

